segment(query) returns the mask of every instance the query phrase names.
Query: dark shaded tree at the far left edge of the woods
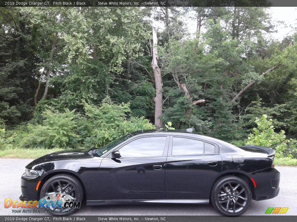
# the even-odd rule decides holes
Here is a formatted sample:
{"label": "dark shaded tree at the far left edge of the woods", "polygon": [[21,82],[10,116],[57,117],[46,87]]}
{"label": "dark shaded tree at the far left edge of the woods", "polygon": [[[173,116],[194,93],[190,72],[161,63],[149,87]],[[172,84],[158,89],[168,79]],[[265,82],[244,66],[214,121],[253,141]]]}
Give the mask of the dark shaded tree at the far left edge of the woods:
{"label": "dark shaded tree at the far left edge of the woods", "polygon": [[20,8],[0,9],[0,118],[7,125],[32,117],[32,76],[40,60],[31,49],[29,23]]}

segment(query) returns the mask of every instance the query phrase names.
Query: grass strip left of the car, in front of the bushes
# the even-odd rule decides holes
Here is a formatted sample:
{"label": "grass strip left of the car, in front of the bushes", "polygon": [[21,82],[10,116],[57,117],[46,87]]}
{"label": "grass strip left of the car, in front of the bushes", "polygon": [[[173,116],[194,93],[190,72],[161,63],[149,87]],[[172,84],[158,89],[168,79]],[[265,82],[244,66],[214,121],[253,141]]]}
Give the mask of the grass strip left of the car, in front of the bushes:
{"label": "grass strip left of the car, in front of the bushes", "polygon": [[63,150],[63,149],[61,148],[54,148],[54,149],[8,148],[5,150],[0,149],[0,158],[37,159],[41,156],[44,156],[46,154],[50,154],[59,150]]}

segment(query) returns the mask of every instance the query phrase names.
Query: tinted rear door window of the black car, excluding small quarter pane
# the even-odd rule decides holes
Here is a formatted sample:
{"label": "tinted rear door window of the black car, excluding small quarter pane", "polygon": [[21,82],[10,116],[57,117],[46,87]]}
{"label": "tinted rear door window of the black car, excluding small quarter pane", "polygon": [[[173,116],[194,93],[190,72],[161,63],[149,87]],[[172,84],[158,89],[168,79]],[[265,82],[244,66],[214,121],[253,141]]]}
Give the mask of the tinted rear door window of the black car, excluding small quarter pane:
{"label": "tinted rear door window of the black car, excluding small quarter pane", "polygon": [[172,155],[203,154],[203,142],[194,139],[173,137]]}

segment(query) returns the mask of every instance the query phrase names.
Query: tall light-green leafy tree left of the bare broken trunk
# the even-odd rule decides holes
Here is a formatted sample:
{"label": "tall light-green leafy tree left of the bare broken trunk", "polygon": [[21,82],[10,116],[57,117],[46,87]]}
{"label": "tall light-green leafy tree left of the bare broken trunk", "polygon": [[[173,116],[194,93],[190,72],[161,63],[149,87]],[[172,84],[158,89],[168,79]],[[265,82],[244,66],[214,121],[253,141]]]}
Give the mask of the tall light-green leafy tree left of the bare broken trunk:
{"label": "tall light-green leafy tree left of the bare broken trunk", "polygon": [[59,36],[64,60],[55,69],[61,74],[51,81],[59,92],[47,102],[81,112],[82,101],[99,104],[126,75],[123,64],[143,54],[140,45],[149,34],[140,12],[125,7],[67,9]]}

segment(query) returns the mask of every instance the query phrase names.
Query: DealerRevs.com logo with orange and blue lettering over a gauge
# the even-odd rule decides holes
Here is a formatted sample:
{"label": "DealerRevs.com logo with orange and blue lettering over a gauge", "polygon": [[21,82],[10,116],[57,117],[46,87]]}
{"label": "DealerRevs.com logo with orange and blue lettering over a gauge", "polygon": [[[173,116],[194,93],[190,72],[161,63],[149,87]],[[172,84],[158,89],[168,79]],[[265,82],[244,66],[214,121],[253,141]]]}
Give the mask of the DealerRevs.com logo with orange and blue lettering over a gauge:
{"label": "DealerRevs.com logo with orange and blue lettering over a gauge", "polygon": [[5,208],[12,209],[13,213],[72,213],[75,208],[80,208],[81,202],[74,201],[73,197],[63,193],[49,193],[40,200],[18,201],[6,198]]}

